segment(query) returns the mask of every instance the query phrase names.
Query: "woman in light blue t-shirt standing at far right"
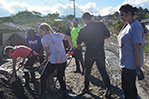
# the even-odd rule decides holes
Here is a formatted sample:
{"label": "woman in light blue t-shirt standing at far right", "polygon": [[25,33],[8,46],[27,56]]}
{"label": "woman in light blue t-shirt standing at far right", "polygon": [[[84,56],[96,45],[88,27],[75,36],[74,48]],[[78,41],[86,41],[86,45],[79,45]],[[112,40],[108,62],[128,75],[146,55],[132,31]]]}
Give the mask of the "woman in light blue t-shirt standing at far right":
{"label": "woman in light blue t-shirt standing at far right", "polygon": [[144,30],[141,24],[134,19],[137,8],[129,4],[122,5],[119,9],[120,17],[126,26],[118,35],[120,62],[122,65],[122,89],[125,99],[137,99],[136,76],[140,75],[143,66],[143,51],[145,47]]}

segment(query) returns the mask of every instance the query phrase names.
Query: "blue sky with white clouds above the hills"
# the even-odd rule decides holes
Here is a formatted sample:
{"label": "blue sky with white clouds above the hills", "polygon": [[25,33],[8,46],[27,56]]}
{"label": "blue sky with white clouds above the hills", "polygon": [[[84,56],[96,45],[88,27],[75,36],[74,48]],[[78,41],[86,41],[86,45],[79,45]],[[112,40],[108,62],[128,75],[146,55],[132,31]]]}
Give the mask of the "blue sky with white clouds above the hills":
{"label": "blue sky with white clouds above the hills", "polygon": [[[121,5],[129,3],[149,10],[149,0],[75,0],[76,17],[83,12],[94,15],[108,15],[118,11]],[[0,0],[0,17],[10,16],[19,11],[37,11],[46,15],[58,12],[61,16],[73,14],[71,0]]]}

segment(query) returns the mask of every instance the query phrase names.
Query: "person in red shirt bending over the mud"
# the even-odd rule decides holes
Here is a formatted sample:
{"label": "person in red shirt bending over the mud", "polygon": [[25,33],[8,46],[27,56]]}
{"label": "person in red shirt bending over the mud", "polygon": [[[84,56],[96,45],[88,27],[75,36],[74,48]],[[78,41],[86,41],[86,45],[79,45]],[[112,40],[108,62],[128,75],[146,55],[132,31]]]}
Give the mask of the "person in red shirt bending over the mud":
{"label": "person in red shirt bending over the mud", "polygon": [[[31,80],[31,82],[35,81],[35,72],[30,71],[27,68],[32,67],[34,65],[34,63],[38,60],[40,60],[40,62],[42,62],[43,57],[40,57],[37,52],[33,51],[31,48],[24,46],[24,45],[15,46],[15,47],[6,46],[4,48],[4,54],[6,54],[7,56],[10,56],[13,60],[13,73],[10,75],[8,80],[11,80],[11,78],[13,76],[15,78],[17,78],[17,71],[24,66],[24,78],[25,78],[25,85],[24,86],[28,87],[30,80]],[[19,64],[18,69],[16,69],[16,61],[17,61],[18,57],[21,57],[24,59]],[[26,58],[28,60],[25,62]],[[25,64],[24,64],[24,62],[25,62]],[[30,75],[31,75],[31,79],[30,79]]]}

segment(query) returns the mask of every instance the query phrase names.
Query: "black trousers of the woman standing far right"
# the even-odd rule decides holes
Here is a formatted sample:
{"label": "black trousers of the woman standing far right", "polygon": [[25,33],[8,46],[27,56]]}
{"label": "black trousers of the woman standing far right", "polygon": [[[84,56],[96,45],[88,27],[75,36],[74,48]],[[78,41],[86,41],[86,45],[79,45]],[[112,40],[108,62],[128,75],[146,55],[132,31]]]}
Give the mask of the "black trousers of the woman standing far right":
{"label": "black trousers of the woman standing far right", "polygon": [[125,99],[137,99],[136,70],[122,69],[122,89]]}

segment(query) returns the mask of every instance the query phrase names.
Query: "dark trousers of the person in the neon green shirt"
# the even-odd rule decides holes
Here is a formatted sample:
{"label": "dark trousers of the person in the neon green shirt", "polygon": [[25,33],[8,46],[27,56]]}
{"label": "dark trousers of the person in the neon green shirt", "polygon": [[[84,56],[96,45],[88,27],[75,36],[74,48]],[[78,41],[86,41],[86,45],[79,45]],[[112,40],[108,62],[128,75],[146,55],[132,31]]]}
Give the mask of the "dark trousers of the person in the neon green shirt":
{"label": "dark trousers of the person in the neon green shirt", "polygon": [[82,55],[82,48],[75,49],[73,57],[75,58],[76,71],[80,71],[80,63],[81,63],[82,70],[84,72],[84,61],[83,61],[83,55]]}

